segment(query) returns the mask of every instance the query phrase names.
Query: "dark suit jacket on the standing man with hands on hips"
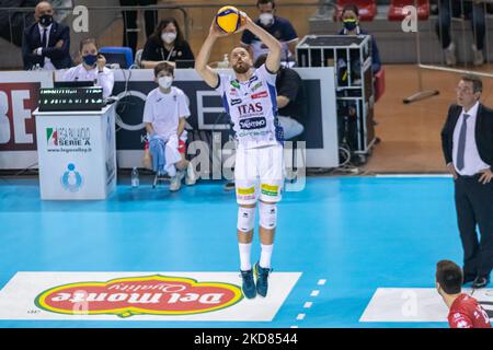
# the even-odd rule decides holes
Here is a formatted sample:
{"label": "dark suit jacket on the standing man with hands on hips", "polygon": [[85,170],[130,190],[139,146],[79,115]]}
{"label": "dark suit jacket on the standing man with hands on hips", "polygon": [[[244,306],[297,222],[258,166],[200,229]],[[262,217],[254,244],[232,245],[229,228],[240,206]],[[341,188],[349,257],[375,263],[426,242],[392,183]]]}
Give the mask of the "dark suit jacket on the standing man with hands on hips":
{"label": "dark suit jacket on the standing man with hands on hips", "polygon": [[[447,121],[442,130],[442,149],[446,164],[452,162],[454,130],[461,113],[462,107],[452,104],[448,108]],[[493,109],[481,103],[478,106],[474,136],[481,160],[493,171]]]}

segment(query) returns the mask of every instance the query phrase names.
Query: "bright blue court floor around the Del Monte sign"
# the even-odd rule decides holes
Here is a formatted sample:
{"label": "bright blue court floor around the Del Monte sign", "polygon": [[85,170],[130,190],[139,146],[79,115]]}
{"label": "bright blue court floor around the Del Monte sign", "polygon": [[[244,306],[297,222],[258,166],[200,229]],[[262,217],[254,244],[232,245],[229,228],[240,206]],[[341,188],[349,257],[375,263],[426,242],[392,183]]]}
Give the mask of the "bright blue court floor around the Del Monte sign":
{"label": "bright blue court floor around the Del Monte sign", "polygon": [[[41,201],[36,180],[0,178],[0,288],[18,271],[238,270],[233,191],[221,183],[175,194],[153,190],[150,178],[138,189],[128,183],[106,201],[58,202]],[[255,237],[252,261],[259,248]],[[273,267],[302,275],[273,322],[1,319],[0,327],[447,327],[359,322],[377,288],[433,288],[443,258],[461,259],[450,178],[309,177],[279,203]]]}

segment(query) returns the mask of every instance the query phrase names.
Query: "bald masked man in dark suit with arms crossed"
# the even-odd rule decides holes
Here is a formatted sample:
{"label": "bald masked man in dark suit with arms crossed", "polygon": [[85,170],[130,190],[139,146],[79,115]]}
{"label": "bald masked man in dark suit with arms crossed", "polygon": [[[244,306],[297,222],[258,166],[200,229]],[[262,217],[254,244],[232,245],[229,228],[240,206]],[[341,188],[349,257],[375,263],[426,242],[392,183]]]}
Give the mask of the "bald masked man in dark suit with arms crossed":
{"label": "bald masked man in dark suit with arms crossed", "polygon": [[22,57],[25,70],[33,69],[36,65],[45,70],[72,66],[69,27],[55,22],[53,12],[51,3],[39,2],[34,10],[36,23],[24,31]]}

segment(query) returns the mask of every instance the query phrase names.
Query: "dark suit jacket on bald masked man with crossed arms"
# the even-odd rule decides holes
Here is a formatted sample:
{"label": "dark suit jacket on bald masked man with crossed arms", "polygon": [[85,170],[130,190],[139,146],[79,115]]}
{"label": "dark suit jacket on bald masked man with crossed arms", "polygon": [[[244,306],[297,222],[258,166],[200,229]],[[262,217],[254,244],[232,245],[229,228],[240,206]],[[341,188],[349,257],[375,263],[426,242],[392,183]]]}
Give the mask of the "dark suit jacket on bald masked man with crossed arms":
{"label": "dark suit jacket on bald masked man with crossed arms", "polygon": [[[55,47],[58,40],[64,40],[64,45]],[[56,69],[70,68],[72,59],[70,58],[70,30],[68,26],[53,22],[49,31],[48,47],[43,48],[42,55],[33,54],[33,50],[42,46],[42,37],[37,22],[24,30],[24,38],[22,40],[22,57],[24,60],[24,69],[32,69],[33,66],[39,63],[45,65],[45,57],[51,60]]]}

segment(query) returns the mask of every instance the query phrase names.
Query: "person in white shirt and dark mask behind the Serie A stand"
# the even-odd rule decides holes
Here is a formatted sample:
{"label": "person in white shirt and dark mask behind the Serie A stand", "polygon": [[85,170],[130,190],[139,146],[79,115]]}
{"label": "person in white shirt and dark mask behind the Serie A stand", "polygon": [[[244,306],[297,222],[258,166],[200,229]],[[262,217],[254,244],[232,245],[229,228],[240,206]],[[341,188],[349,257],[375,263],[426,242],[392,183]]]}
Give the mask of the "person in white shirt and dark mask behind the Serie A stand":
{"label": "person in white shirt and dark mask behind the Serie A stand", "polygon": [[103,97],[108,97],[113,92],[115,75],[105,67],[106,59],[98,54],[94,38],[85,38],[79,45],[82,63],[72,67],[64,73],[64,81],[93,81],[95,86],[103,88]]}

